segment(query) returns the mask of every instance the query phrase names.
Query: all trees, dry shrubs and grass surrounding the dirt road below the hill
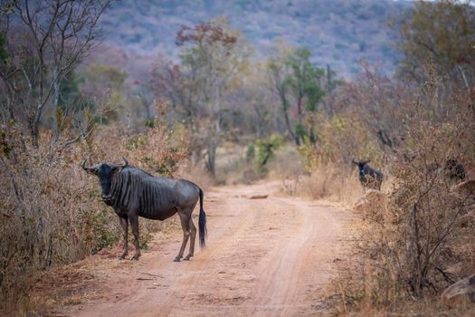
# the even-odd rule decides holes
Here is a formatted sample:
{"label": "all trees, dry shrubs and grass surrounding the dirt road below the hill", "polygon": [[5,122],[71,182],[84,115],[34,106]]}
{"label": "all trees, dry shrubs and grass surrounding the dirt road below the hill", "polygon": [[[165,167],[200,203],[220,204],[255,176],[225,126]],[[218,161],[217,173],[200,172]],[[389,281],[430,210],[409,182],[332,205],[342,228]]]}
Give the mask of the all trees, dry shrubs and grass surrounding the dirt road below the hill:
{"label": "all trees, dry shrubs and grass surrounding the dirt road below the hill", "polygon": [[[201,187],[274,178],[354,208],[337,312],[446,312],[442,291],[475,272],[471,2],[404,11],[391,74],[360,61],[343,79],[283,41],[257,58],[219,16],[176,30],[178,59],[157,56],[140,81],[88,62],[109,1],[0,3],[0,311],[27,302],[34,274],[119,243],[81,159],[124,156]],[[383,171],[381,192],[352,159]],[[146,246],[160,225],[141,224]]]}

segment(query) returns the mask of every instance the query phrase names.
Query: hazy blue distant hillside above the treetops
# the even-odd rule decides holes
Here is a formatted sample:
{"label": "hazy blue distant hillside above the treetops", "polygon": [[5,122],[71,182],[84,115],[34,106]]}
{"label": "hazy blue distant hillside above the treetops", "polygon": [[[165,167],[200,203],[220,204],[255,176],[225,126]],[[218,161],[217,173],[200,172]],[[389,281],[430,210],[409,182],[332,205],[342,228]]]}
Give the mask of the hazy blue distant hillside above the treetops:
{"label": "hazy blue distant hillside above the treetops", "polygon": [[348,77],[357,72],[361,58],[394,71],[397,33],[387,25],[410,6],[386,0],[123,0],[103,16],[102,28],[109,50],[146,60],[157,53],[176,59],[181,25],[225,15],[255,46],[258,57],[281,37],[309,47],[318,66],[329,64]]}

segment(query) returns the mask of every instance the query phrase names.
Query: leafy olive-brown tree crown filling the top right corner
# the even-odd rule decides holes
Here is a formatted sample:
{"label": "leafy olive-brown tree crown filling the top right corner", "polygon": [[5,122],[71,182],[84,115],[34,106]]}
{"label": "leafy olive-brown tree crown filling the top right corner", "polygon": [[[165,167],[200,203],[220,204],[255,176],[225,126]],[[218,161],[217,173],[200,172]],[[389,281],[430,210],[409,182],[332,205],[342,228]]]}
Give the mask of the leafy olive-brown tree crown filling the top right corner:
{"label": "leafy olive-brown tree crown filling the top right corner", "polygon": [[427,81],[429,62],[440,75],[469,88],[475,84],[475,8],[473,1],[419,1],[400,25],[401,72]]}

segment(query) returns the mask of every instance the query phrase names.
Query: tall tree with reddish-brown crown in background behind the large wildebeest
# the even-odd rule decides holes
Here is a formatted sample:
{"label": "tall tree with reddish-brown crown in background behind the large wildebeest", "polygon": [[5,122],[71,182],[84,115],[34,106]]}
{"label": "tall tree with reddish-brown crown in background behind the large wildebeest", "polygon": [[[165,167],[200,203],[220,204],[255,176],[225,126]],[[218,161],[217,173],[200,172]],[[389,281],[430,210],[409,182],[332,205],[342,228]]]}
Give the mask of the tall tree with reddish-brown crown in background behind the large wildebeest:
{"label": "tall tree with reddish-brown crown in background behind the large wildebeest", "polygon": [[188,96],[189,91],[195,92],[193,102],[185,102],[185,107],[201,121],[195,127],[203,138],[206,168],[214,176],[216,149],[224,132],[225,97],[242,83],[251,49],[224,18],[183,26],[176,43],[182,47],[182,73],[192,79],[178,88],[185,88]]}

